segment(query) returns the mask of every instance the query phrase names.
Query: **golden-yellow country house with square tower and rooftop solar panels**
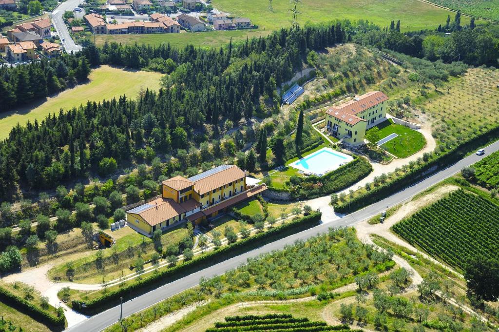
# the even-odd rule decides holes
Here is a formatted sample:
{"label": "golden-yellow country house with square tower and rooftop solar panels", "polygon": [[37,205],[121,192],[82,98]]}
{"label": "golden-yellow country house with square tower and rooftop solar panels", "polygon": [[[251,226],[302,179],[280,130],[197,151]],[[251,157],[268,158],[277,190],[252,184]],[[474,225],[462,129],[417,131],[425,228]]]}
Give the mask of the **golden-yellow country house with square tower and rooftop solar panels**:
{"label": "golden-yellow country house with square tower and rooftop solar panels", "polygon": [[246,173],[222,165],[188,179],[176,176],[161,183],[161,198],[127,211],[128,226],[152,236],[179,222],[201,223],[266,190],[247,185]]}

